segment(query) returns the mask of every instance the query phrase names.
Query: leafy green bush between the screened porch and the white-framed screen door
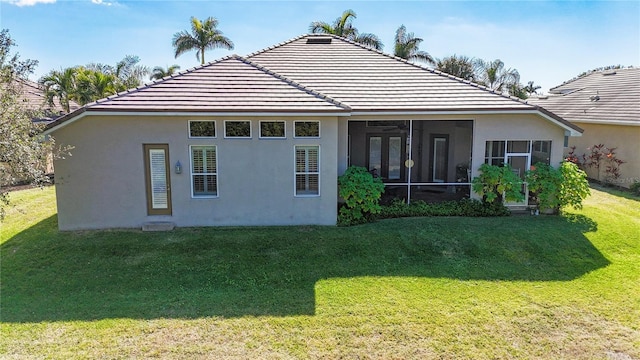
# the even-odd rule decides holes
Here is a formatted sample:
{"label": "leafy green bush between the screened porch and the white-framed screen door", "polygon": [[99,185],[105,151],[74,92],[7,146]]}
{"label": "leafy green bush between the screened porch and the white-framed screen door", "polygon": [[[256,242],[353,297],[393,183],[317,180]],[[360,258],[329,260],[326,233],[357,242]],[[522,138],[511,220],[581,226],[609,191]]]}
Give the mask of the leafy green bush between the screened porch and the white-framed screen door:
{"label": "leafy green bush between the screened porch and the white-framed screen door", "polygon": [[471,181],[473,191],[482,197],[486,203],[500,203],[504,201],[524,201],[520,192],[522,180],[513,173],[511,166],[480,165],[480,176]]}

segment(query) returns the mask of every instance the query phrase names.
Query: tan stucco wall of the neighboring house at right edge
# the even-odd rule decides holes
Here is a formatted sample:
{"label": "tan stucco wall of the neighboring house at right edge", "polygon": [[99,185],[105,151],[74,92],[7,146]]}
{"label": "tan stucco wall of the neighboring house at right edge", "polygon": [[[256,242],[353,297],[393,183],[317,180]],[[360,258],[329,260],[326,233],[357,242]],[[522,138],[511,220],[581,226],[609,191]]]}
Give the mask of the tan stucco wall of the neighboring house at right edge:
{"label": "tan stucco wall of the neighboring house at right edge", "polygon": [[[589,124],[576,123],[584,129],[581,137],[569,139],[569,146],[575,146],[575,154],[582,158],[583,154],[589,154],[587,148],[604,144],[609,148],[616,148],[616,156],[618,159],[625,161],[620,166],[619,179],[615,181],[615,185],[630,187],[634,180],[640,181],[640,126],[624,126],[624,125],[606,125],[606,124]],[[587,168],[587,174],[593,179],[604,180],[605,162],[600,167],[600,176],[598,177],[595,168]]]}

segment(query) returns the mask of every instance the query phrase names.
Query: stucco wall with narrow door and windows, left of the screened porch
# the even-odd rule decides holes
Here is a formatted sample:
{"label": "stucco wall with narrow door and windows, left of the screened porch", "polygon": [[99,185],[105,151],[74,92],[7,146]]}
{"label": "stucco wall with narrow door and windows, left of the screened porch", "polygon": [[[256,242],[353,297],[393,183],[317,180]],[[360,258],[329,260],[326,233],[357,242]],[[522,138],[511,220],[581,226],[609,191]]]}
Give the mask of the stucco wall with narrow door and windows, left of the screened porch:
{"label": "stucco wall with narrow door and windows, left of the screened porch", "polygon": [[[202,117],[86,116],[56,131],[72,156],[56,161],[61,230],[177,226],[296,225],[336,222],[336,118],[222,118],[215,139],[189,139],[188,120]],[[250,120],[251,139],[225,139],[224,120]],[[285,120],[286,139],[259,139],[260,120]],[[294,139],[294,120],[319,120],[319,139]],[[148,216],[143,144],[168,144],[171,216]],[[190,145],[216,145],[218,197],[191,195]],[[294,146],[320,146],[320,196],[294,196]],[[177,161],[182,174],[174,172]]]}

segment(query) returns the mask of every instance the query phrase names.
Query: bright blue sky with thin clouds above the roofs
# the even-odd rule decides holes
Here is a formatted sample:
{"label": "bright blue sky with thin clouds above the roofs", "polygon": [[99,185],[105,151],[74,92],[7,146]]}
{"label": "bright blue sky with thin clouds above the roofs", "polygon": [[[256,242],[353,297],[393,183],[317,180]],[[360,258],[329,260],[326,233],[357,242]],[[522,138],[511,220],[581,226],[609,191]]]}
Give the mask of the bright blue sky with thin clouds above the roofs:
{"label": "bright blue sky with thin clouds above the roofs", "polygon": [[37,80],[51,70],[137,55],[150,68],[200,64],[195,51],[174,57],[173,34],[195,16],[218,19],[233,50],[205,52],[206,61],[255,51],[333,22],[352,9],[360,32],[376,34],[393,52],[405,25],[435,58],[500,59],[540,92],[608,65],[640,66],[640,1],[126,1],[0,0],[0,28],[21,59],[39,61]]}

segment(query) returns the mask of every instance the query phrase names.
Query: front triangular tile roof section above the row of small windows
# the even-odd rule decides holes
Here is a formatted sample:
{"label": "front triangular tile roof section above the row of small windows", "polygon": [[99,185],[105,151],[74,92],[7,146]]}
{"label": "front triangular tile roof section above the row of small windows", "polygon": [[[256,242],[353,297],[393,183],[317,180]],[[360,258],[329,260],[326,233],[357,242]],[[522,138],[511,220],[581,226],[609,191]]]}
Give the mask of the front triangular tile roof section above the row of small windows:
{"label": "front triangular tile roof section above the row of small windows", "polygon": [[88,106],[96,111],[345,111],[348,106],[233,55]]}

